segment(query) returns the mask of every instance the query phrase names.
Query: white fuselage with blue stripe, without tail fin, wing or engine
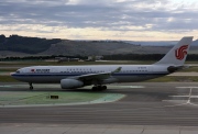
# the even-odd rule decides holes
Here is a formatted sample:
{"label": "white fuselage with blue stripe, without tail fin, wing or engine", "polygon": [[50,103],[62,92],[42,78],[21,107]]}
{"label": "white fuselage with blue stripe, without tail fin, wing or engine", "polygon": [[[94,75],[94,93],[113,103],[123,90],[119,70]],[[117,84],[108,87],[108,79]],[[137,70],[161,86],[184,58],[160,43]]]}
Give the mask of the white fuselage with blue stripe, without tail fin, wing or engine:
{"label": "white fuselage with blue stripe, without tail fin, wing or engine", "polygon": [[112,74],[110,79],[102,82],[134,82],[168,75],[168,66],[170,65],[32,66],[21,68],[11,76],[32,83],[59,83],[62,79],[69,77],[113,71],[121,67],[119,72]]}

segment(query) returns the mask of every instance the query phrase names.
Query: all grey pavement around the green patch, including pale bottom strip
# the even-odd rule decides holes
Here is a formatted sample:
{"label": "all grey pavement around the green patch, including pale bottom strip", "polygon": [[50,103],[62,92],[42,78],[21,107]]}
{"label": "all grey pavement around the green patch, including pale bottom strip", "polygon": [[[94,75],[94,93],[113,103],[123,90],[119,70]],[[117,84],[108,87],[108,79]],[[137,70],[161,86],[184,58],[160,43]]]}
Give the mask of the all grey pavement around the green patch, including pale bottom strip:
{"label": "all grey pavement around the green patch, including pale bottom strip", "polygon": [[[101,104],[0,108],[0,132],[2,134],[29,134],[41,131],[46,134],[51,131],[68,134],[198,133],[198,83],[139,82],[112,85],[105,92],[122,93],[127,97],[117,102]],[[0,88],[0,91],[4,90],[28,89]]]}

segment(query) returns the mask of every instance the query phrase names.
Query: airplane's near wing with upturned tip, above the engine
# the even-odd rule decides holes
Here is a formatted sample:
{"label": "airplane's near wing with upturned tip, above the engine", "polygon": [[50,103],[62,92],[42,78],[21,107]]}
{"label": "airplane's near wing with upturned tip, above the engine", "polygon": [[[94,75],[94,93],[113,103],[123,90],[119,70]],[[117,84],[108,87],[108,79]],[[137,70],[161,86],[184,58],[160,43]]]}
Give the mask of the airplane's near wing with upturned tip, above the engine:
{"label": "airplane's near wing with upturned tip, above the engine", "polygon": [[87,74],[76,77],[69,77],[68,79],[77,79],[77,80],[105,80],[108,79],[112,74],[119,72],[122,67],[118,67],[113,71],[107,71],[107,72],[99,72],[99,74]]}

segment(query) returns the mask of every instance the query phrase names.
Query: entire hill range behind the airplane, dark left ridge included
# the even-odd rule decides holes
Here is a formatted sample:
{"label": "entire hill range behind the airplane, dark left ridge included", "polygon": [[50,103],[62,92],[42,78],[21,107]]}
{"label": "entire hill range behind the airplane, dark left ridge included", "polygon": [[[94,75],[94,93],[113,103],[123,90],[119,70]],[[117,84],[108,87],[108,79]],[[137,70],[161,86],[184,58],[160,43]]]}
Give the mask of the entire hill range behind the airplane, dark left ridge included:
{"label": "entire hill range behind the airplane, dark left ridge included", "polygon": [[[198,54],[198,42],[194,42],[190,54]],[[198,45],[198,44],[197,44]],[[42,56],[42,55],[116,55],[116,54],[165,54],[173,46],[142,46],[119,41],[69,41],[46,40],[0,35],[0,56]]]}

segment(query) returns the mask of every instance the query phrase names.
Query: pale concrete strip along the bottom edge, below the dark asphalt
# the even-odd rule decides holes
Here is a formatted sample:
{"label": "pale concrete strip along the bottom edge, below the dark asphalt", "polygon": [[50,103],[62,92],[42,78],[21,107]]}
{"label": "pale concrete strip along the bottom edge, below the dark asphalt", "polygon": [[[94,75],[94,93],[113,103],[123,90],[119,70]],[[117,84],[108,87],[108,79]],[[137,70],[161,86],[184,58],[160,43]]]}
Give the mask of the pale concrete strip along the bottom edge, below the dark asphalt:
{"label": "pale concrete strip along the bottom edge, below the dark asphalt", "polygon": [[103,124],[0,124],[1,134],[197,134],[198,127]]}

